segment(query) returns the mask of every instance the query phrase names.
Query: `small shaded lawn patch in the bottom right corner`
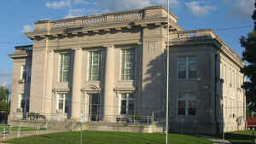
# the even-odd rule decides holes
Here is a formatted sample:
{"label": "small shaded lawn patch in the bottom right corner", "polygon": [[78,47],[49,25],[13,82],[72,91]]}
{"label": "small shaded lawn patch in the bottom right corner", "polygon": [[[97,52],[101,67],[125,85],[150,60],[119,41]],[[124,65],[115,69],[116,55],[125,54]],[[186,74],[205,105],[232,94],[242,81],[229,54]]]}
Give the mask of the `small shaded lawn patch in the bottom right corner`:
{"label": "small shaded lawn patch in the bottom right corner", "polygon": [[230,142],[232,142],[232,144],[252,144],[253,132],[254,132],[254,139],[255,139],[256,130],[244,130],[244,131],[226,133],[225,138]]}

